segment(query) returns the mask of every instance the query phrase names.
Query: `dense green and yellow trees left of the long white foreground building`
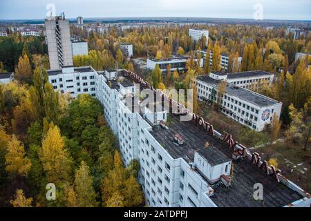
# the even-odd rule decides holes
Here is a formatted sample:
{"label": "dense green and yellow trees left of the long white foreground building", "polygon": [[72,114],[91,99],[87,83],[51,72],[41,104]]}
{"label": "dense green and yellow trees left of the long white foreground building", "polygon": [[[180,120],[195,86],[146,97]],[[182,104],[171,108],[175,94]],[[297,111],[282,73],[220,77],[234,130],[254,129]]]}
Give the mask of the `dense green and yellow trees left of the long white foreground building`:
{"label": "dense green and yellow trees left of the long white foreground building", "polygon": [[0,84],[0,206],[143,206],[139,164],[122,164],[100,102],[54,91],[24,51],[15,81]]}

